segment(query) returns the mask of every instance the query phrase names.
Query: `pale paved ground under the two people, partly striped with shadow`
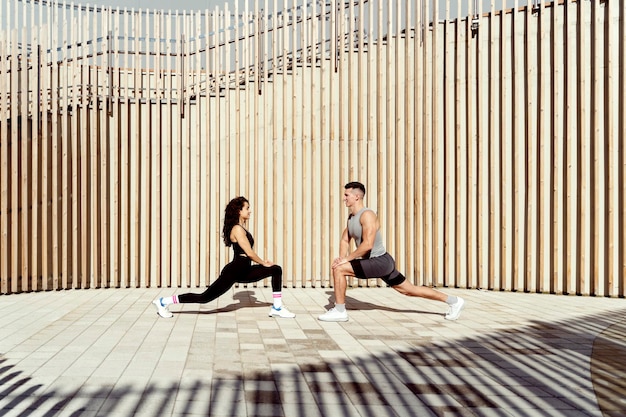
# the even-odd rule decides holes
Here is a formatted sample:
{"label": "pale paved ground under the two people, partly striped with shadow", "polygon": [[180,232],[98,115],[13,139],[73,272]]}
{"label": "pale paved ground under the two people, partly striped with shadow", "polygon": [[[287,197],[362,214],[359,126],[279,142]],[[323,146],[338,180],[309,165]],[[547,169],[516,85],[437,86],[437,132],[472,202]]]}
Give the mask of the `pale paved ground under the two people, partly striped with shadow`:
{"label": "pale paved ground under the two people, partly striped with shadow", "polygon": [[172,319],[159,289],[0,296],[1,416],[626,416],[626,300],[450,289],[445,305],[237,288]]}

